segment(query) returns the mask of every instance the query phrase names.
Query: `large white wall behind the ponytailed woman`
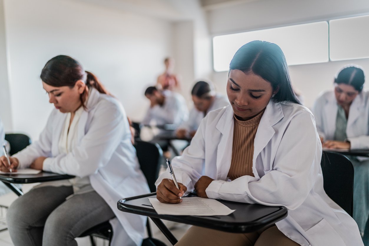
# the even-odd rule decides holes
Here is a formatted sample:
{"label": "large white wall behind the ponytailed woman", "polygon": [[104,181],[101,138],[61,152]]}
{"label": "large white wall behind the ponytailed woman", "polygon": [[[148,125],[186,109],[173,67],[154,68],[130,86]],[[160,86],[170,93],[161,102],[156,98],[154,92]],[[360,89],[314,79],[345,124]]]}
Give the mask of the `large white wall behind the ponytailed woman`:
{"label": "large white wall behind the ponytailed woman", "polygon": [[14,131],[38,138],[53,107],[39,74],[59,54],[95,73],[132,120],[143,117],[144,91],[173,53],[169,21],[70,0],[4,0],[4,9]]}

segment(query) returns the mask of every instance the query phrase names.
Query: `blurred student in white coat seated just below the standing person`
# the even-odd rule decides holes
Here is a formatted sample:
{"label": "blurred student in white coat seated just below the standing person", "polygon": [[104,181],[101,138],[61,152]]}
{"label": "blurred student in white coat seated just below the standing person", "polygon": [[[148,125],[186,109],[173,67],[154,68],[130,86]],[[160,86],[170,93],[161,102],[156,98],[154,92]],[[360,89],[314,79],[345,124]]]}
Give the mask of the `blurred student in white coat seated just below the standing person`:
{"label": "blurred student in white coat seated just below the standing person", "polygon": [[187,120],[188,109],[181,94],[169,90],[159,91],[156,87],[150,86],[146,89],[145,96],[151,104],[141,124],[179,126]]}

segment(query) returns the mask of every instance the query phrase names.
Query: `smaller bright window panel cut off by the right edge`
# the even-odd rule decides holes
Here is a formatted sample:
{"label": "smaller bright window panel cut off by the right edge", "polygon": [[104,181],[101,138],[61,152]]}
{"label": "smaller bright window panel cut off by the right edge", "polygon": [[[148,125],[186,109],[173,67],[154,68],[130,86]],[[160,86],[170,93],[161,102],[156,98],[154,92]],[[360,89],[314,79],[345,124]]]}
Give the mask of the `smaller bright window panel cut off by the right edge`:
{"label": "smaller bright window panel cut off by the right edge", "polygon": [[330,59],[369,58],[369,15],[329,21]]}

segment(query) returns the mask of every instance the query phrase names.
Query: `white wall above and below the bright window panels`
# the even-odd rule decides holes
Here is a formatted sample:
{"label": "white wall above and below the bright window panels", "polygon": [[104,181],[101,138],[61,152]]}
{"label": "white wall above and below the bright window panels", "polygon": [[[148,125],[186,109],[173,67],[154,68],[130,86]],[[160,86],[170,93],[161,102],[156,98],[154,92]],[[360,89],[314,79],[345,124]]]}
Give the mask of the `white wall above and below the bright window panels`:
{"label": "white wall above and below the bright window panels", "polygon": [[[212,36],[360,14],[369,14],[368,0],[259,0],[207,11]],[[368,46],[363,49],[368,49]],[[318,93],[331,89],[334,75],[342,66],[350,63],[363,67],[367,74],[365,89],[368,90],[369,59],[290,66],[292,83],[303,93],[305,105],[312,107]],[[227,74],[213,72],[212,79],[223,93]]]}

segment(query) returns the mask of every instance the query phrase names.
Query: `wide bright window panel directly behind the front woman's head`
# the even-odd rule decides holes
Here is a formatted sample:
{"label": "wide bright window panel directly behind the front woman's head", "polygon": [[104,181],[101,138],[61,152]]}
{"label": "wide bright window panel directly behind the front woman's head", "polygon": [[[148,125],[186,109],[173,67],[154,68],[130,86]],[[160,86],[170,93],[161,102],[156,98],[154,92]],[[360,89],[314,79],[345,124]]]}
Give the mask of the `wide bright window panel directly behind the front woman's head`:
{"label": "wide bright window panel directly behind the front woman's head", "polygon": [[282,49],[288,65],[328,62],[328,22],[320,21],[215,36],[213,60],[216,72],[227,71],[236,51],[253,40],[275,43]]}

